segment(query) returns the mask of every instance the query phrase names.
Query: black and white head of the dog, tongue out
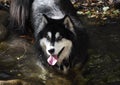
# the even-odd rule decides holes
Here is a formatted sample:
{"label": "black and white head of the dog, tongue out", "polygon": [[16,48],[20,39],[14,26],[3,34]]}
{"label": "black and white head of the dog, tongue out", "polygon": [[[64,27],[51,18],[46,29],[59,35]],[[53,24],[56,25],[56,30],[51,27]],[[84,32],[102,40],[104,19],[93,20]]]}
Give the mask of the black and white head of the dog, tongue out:
{"label": "black and white head of the dog, tongue out", "polygon": [[68,16],[60,20],[43,16],[42,20],[45,26],[38,35],[39,45],[47,56],[48,64],[61,65],[71,54],[75,36],[73,23]]}

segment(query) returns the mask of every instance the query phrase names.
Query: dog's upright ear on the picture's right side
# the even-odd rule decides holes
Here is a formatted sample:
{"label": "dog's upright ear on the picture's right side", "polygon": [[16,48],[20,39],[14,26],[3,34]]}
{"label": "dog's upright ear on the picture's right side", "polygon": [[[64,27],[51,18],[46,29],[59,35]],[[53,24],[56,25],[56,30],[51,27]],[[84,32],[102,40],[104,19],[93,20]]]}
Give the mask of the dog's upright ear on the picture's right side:
{"label": "dog's upright ear on the picture's right side", "polygon": [[70,31],[74,32],[74,25],[73,25],[73,22],[69,16],[66,15],[64,17],[63,23]]}

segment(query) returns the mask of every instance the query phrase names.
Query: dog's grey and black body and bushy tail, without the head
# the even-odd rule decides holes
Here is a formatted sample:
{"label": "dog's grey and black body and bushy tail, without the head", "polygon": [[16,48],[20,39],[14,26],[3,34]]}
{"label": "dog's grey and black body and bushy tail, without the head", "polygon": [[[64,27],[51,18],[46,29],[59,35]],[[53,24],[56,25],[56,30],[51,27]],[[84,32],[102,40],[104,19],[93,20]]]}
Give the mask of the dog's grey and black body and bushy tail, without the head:
{"label": "dog's grey and black body and bushy tail, without the head", "polygon": [[[81,21],[79,20],[75,9],[69,0],[12,0],[10,13],[11,26],[13,26],[13,28],[18,26],[20,28],[19,30],[22,30],[22,32],[27,32],[25,29],[26,26],[29,22],[32,24],[36,39],[36,47],[40,54],[39,60],[42,65],[46,67],[49,66],[46,62],[46,55],[39,45],[39,40],[43,36],[43,31],[45,31],[43,14],[47,15],[49,18],[52,18],[50,22],[55,28],[58,26],[61,27],[61,25],[57,22],[61,22],[66,15],[70,17],[74,25],[74,33],[69,31],[71,32],[71,35],[67,37],[73,43],[69,60],[63,60],[62,64],[69,64],[70,68],[73,68],[75,65],[81,63],[83,64],[87,59],[88,37],[81,25]],[[57,31],[58,29],[55,30]],[[65,32],[65,30],[63,32]]]}

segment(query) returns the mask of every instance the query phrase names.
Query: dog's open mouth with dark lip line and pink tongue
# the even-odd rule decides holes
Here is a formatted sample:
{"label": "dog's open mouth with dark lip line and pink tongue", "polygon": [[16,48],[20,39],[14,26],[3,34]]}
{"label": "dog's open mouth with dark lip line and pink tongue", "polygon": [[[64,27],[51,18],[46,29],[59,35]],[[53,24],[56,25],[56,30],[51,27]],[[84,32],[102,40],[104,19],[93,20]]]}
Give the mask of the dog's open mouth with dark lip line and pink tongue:
{"label": "dog's open mouth with dark lip line and pink tongue", "polygon": [[60,52],[58,53],[58,55],[50,55],[49,58],[47,59],[47,62],[48,62],[50,65],[54,66],[54,65],[57,63],[58,58],[59,58],[60,54],[62,53],[62,51],[64,50],[64,48],[65,48],[65,47],[63,47],[63,48],[60,50]]}

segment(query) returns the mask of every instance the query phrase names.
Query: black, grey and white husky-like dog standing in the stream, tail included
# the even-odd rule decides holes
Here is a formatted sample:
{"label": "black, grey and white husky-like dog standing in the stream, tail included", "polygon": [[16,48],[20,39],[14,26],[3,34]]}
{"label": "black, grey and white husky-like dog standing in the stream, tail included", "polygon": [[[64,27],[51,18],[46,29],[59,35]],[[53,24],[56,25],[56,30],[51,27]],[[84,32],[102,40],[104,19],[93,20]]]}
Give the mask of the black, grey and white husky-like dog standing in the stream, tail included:
{"label": "black, grey and white husky-like dog standing in the stream, tail included", "polygon": [[32,25],[40,67],[67,73],[87,59],[87,34],[69,0],[12,0],[10,14],[13,28]]}

